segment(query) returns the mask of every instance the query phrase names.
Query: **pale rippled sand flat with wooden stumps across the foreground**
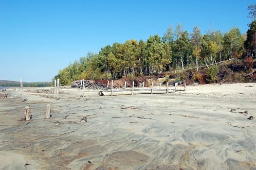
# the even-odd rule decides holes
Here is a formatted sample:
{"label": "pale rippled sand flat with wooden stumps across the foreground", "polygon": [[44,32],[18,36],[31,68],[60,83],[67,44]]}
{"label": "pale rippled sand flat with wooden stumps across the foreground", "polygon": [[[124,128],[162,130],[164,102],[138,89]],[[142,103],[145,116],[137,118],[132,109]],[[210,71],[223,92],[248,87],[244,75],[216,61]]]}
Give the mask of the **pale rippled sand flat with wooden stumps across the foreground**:
{"label": "pale rippled sand flat with wooden stumps across the foreground", "polygon": [[0,92],[1,170],[256,170],[256,120],[247,119],[256,116],[256,84],[84,98],[63,88],[58,101],[52,91],[25,88],[25,102],[18,88],[7,99]]}

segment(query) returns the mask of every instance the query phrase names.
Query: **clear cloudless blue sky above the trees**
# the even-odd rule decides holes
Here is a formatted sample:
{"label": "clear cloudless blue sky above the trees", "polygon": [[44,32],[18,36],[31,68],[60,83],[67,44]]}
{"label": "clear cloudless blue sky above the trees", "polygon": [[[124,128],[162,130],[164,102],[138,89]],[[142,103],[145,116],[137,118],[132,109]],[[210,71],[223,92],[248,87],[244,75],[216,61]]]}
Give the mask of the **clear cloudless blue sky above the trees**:
{"label": "clear cloudless blue sky above the trees", "polygon": [[0,0],[0,80],[51,81],[87,53],[129,39],[192,32],[242,34],[255,0]]}

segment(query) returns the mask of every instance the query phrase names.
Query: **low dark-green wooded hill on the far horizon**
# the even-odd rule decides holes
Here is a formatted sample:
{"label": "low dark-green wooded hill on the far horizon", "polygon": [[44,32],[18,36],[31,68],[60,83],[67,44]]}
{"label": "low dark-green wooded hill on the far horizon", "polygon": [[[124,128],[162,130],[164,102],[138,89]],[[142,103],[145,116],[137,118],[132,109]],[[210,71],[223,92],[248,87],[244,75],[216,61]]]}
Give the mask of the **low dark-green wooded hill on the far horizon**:
{"label": "low dark-green wooded hill on the far horizon", "polygon": [[[9,80],[0,80],[0,87],[19,87],[20,82],[9,81]],[[47,87],[52,86],[52,82],[23,82],[23,87]]]}

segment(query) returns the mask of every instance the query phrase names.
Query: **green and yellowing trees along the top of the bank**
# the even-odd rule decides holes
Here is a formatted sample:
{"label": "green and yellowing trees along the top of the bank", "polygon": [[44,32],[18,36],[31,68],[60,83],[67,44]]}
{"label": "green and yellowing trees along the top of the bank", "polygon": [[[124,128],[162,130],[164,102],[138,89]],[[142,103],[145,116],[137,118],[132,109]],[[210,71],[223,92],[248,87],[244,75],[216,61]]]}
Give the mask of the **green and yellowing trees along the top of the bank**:
{"label": "green and yellowing trees along the top of the bank", "polygon": [[80,79],[119,79],[123,76],[160,74],[165,71],[212,65],[223,60],[244,59],[256,54],[256,21],[253,11],[256,5],[248,6],[252,22],[247,34],[233,27],[228,32],[208,31],[201,34],[198,26],[192,33],[178,24],[170,26],[163,37],[155,34],[146,41],[135,39],[125,43],[107,45],[98,53],[88,52],[86,57],[70,63],[59,70],[54,79],[61,85],[70,85]]}

